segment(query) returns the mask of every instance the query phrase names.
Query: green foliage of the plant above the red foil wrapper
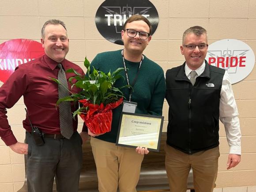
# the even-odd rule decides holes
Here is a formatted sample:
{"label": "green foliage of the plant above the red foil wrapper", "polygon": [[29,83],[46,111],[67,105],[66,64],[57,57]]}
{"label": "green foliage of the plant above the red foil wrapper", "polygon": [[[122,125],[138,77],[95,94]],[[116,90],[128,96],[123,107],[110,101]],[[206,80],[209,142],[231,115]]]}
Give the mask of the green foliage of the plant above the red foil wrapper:
{"label": "green foliage of the plant above the red foil wrapper", "polygon": [[[67,102],[67,101],[73,101],[77,102],[80,99],[87,99],[93,104],[100,105],[103,103],[104,105],[116,102],[123,96],[123,93],[120,91],[121,88],[128,87],[128,85],[117,88],[113,87],[115,81],[120,78],[124,78],[119,73],[124,70],[124,68],[118,68],[113,73],[111,71],[105,73],[102,71],[98,71],[93,67],[93,70],[90,70],[90,63],[85,58],[84,61],[85,67],[87,68],[87,75],[80,75],[78,72],[76,72],[74,69],[68,69],[67,72],[72,72],[75,74],[74,77],[69,78],[69,82],[73,86],[78,87],[79,89],[82,89],[77,94],[73,94],[59,99],[57,104],[59,105],[60,102]],[[51,78],[56,83],[61,83],[55,79]],[[90,81],[94,81],[94,83],[91,83]],[[86,109],[86,110],[85,110]],[[73,116],[81,113],[85,113],[87,111],[87,108],[85,109],[78,109],[73,113]]]}

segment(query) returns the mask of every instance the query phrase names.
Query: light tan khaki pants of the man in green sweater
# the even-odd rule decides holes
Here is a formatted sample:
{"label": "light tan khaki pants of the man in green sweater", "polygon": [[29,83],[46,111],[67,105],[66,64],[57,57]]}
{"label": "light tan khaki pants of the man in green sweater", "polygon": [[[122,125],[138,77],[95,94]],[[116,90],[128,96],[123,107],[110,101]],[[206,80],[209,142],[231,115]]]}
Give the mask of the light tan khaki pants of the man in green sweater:
{"label": "light tan khaki pants of the man in green sweater", "polygon": [[90,144],[97,167],[99,192],[136,192],[143,155],[134,148],[91,137]]}

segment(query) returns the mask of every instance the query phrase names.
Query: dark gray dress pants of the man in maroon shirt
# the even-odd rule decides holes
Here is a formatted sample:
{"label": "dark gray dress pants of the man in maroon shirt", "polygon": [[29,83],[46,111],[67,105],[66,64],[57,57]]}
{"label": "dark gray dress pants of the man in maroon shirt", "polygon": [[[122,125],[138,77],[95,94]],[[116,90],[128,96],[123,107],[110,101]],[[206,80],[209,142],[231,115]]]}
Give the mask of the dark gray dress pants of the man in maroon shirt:
{"label": "dark gray dress pants of the man in maroon shirt", "polygon": [[77,192],[83,142],[79,133],[74,132],[71,139],[44,140],[43,146],[37,146],[26,132],[28,192],[52,192],[54,177],[58,192]]}

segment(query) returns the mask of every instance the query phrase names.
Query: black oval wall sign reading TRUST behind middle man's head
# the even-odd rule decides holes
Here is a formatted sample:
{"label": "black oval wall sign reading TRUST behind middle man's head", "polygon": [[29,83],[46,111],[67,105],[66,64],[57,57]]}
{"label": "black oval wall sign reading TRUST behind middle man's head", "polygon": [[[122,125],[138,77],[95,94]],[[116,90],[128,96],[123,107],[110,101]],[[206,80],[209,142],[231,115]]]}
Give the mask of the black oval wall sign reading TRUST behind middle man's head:
{"label": "black oval wall sign reading TRUST behind middle man's head", "polygon": [[96,12],[95,23],[105,39],[124,45],[121,30],[126,19],[135,14],[143,15],[150,21],[154,34],[159,18],[156,8],[149,0],[105,0]]}

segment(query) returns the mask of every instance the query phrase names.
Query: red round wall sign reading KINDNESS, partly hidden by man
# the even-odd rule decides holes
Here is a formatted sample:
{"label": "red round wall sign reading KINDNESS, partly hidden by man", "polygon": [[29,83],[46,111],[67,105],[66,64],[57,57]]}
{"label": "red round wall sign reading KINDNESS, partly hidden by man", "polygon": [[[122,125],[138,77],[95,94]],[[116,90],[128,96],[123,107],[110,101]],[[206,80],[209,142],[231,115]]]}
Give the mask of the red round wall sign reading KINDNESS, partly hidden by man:
{"label": "red round wall sign reading KINDNESS, partly hidden by man", "polygon": [[42,56],[45,50],[41,43],[29,39],[12,39],[0,45],[0,81],[3,83],[15,68]]}

